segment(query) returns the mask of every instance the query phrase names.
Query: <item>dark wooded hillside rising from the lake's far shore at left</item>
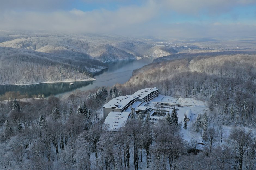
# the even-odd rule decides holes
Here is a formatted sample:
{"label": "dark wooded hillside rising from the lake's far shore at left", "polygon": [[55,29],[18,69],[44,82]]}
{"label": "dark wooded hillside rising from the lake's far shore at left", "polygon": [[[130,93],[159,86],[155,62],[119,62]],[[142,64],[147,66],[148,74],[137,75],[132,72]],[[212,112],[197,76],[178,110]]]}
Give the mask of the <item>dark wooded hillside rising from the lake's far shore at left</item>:
{"label": "dark wooded hillside rising from the lake's far shore at left", "polygon": [[92,80],[107,65],[92,59],[0,47],[0,84]]}

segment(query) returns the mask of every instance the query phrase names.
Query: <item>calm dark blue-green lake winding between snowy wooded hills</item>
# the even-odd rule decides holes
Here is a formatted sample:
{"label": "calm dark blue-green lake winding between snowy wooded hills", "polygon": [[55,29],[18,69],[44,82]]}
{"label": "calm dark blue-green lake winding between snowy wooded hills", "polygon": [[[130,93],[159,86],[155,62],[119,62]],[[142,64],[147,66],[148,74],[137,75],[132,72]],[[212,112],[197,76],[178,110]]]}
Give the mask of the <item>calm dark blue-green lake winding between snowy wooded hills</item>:
{"label": "calm dark blue-green lake winding between snowy wooded hills", "polygon": [[79,89],[81,91],[93,89],[96,86],[113,86],[116,83],[124,84],[132,76],[133,70],[141,68],[144,65],[150,64],[155,57],[147,57],[144,59],[131,59],[108,62],[109,68],[105,69],[94,76],[94,81],[77,81],[74,85],[69,85],[70,82],[62,83],[39,83],[32,85],[0,85],[0,95],[7,91],[20,92],[20,94],[38,95],[44,94],[45,97],[51,94],[55,96],[64,95]]}

